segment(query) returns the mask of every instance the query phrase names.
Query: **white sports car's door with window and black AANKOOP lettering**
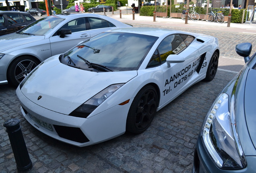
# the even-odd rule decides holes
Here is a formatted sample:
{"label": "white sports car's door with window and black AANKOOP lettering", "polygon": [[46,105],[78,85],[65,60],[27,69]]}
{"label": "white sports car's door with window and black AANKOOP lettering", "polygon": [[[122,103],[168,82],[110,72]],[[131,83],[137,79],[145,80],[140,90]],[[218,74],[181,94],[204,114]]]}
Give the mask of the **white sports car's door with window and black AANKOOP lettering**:
{"label": "white sports car's door with window and black AANKOOP lettering", "polygon": [[[194,37],[189,36],[187,40],[184,40],[184,37],[186,36],[181,36],[180,34],[167,36],[158,46],[161,68],[163,70],[161,103],[168,102],[184,91],[189,85],[194,70],[196,70],[197,66],[193,65],[193,63],[198,58],[198,50],[188,47],[190,42],[194,40]],[[171,62],[169,67],[166,62],[167,60]]]}

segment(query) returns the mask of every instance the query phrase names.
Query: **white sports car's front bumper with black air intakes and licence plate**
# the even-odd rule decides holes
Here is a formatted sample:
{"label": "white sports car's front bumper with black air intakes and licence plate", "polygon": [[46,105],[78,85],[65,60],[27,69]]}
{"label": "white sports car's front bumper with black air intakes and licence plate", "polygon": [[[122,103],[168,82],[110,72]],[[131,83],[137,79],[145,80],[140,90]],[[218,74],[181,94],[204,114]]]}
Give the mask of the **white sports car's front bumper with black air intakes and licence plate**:
{"label": "white sports car's front bumper with black air intakes and licence plate", "polygon": [[[16,93],[21,103],[21,112],[33,127],[50,137],[78,147],[93,145],[124,134],[132,103],[131,99],[126,105],[116,105],[90,118],[79,118],[36,105],[21,93],[19,87]],[[51,126],[52,131],[35,120]]]}

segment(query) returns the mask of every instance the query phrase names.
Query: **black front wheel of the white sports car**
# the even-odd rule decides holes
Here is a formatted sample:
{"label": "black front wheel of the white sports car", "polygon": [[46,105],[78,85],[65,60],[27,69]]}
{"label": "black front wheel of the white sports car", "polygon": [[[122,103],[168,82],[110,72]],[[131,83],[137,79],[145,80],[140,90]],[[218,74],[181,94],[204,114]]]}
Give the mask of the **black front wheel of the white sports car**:
{"label": "black front wheel of the white sports car", "polygon": [[132,101],[126,120],[126,131],[139,134],[151,125],[158,105],[155,88],[143,87]]}

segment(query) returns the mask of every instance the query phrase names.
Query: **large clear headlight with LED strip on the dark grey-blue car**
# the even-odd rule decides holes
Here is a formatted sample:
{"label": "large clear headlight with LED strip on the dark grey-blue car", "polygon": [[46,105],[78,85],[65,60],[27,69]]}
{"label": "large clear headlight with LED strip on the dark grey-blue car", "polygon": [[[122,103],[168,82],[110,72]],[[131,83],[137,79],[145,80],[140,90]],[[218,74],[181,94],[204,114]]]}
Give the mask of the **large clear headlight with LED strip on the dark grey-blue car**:
{"label": "large clear headlight with LED strip on the dark grey-blue car", "polygon": [[233,99],[229,112],[229,96],[222,93],[209,110],[202,128],[204,146],[215,164],[221,169],[242,169],[246,160],[239,143]]}

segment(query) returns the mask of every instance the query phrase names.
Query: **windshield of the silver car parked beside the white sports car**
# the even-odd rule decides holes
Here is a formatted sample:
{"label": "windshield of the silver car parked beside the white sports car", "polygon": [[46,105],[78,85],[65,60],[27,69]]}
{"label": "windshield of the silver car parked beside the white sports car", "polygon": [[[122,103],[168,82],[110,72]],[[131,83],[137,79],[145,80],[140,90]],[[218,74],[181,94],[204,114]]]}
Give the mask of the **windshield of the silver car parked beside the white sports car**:
{"label": "windshield of the silver car parked beside the white sports car", "polygon": [[28,27],[20,30],[17,34],[28,34],[28,35],[45,35],[50,32],[55,26],[62,22],[63,18],[56,18],[53,16],[41,18]]}

